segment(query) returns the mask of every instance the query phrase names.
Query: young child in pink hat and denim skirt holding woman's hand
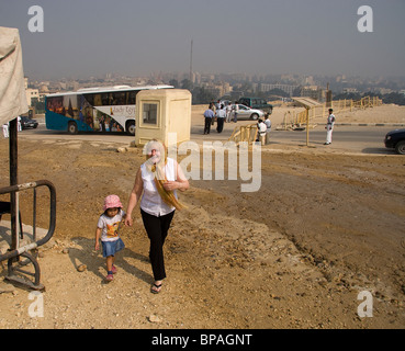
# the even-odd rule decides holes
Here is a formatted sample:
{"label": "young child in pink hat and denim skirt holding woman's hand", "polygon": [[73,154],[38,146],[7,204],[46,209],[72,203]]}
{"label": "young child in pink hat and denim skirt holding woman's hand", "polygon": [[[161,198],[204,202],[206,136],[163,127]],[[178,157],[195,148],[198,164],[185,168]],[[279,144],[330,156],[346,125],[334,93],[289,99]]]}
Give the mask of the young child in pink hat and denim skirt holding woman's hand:
{"label": "young child in pink hat and denim skirt holding woman's hand", "polygon": [[95,229],[95,251],[99,250],[100,237],[103,248],[103,257],[106,258],[106,281],[111,282],[116,273],[114,265],[115,252],[125,248],[120,238],[119,228],[125,219],[125,212],[117,195],[109,195],[104,200],[104,213],[100,216]]}

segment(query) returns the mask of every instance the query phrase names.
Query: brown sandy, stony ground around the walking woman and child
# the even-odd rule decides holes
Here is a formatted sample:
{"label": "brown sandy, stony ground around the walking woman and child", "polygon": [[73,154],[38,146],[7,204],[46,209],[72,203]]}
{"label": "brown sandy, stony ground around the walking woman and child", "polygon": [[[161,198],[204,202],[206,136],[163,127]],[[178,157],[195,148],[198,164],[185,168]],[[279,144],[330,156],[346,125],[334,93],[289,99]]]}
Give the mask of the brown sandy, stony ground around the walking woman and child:
{"label": "brown sandy, stony ground around the walking woman and child", "polygon": [[[204,107],[193,107],[193,125],[202,125]],[[274,109],[273,125],[288,110]],[[404,121],[404,107],[383,105],[338,122]],[[0,181],[8,184],[8,141],[0,146]],[[20,182],[55,184],[57,225],[40,248],[44,316],[30,316],[29,291],[1,282],[0,328],[404,328],[404,157],[266,146],[258,192],[241,192],[241,180],[190,181],[180,197],[188,208],[176,214],[165,245],[168,278],[153,295],[138,211],[122,231],[126,248],[112,283],[93,250],[104,196],[116,193],[126,205],[144,161],[140,150],[116,152],[119,146],[19,139]],[[47,228],[47,193],[38,193],[37,223]],[[27,225],[31,208],[32,193],[21,194]],[[358,299],[364,291],[368,308]]]}

